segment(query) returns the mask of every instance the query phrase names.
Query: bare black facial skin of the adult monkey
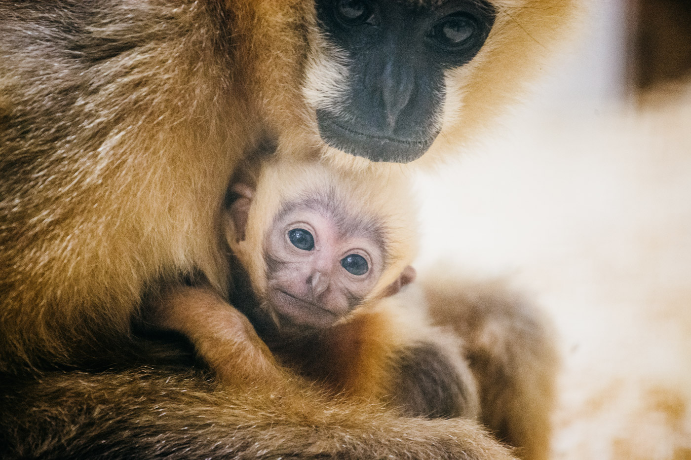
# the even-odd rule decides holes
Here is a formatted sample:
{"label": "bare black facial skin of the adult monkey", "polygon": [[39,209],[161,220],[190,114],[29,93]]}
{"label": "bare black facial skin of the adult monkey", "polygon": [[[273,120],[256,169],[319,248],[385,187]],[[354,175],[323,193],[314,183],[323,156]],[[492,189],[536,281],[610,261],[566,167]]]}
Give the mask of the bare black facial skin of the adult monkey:
{"label": "bare black facial skin of the adult monkey", "polygon": [[338,111],[316,111],[321,138],[352,155],[401,163],[434,142],[444,71],[475,57],[495,19],[484,0],[316,0],[316,12],[327,39],[348,53],[351,82]]}

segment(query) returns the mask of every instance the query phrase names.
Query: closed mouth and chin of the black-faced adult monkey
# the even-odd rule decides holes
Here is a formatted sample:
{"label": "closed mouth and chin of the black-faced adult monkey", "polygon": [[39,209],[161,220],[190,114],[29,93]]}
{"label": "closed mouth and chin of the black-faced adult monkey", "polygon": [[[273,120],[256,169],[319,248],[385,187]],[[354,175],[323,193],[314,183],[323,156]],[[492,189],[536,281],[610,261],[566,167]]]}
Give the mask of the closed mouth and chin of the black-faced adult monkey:
{"label": "closed mouth and chin of the black-faced adult monkey", "polygon": [[441,131],[437,128],[424,139],[397,139],[343,126],[325,111],[317,110],[316,119],[319,135],[328,146],[373,162],[409,163],[417,160],[429,150]]}

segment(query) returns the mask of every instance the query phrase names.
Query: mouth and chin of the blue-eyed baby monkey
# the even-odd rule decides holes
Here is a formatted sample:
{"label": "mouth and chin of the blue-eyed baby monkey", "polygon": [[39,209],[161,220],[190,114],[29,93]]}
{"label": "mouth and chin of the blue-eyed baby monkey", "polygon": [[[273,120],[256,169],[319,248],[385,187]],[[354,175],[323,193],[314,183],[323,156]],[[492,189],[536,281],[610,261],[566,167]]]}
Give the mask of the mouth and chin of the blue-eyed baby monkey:
{"label": "mouth and chin of the blue-eyed baby monkey", "polygon": [[295,326],[329,327],[340,318],[339,314],[282,289],[271,289],[269,303],[276,314]]}

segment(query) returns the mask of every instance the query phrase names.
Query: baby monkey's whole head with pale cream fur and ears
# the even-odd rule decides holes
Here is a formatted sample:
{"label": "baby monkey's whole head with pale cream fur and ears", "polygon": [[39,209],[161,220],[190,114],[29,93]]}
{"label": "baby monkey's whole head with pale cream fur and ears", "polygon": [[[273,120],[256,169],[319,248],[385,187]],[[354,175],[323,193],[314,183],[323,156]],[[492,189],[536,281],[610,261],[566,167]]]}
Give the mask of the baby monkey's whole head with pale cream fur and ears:
{"label": "baby monkey's whole head with pale cream fur and ears", "polygon": [[408,188],[394,175],[287,160],[234,184],[226,236],[262,308],[288,329],[329,327],[411,282]]}

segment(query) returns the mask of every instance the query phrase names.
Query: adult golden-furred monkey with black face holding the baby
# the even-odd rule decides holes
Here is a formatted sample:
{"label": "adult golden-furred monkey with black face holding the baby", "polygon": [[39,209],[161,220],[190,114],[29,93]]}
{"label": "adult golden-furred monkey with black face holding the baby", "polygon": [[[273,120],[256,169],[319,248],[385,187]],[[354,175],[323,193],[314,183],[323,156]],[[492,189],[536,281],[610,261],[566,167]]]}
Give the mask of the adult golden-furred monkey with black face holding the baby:
{"label": "adult golden-furred monkey with black face holding the baby", "polygon": [[166,358],[131,318],[181,274],[227,291],[220,213],[247,151],[443,157],[520,93],[575,3],[1,3],[6,455],[508,458],[471,422],[331,402],[298,377],[275,398],[152,369]]}

